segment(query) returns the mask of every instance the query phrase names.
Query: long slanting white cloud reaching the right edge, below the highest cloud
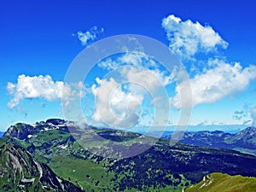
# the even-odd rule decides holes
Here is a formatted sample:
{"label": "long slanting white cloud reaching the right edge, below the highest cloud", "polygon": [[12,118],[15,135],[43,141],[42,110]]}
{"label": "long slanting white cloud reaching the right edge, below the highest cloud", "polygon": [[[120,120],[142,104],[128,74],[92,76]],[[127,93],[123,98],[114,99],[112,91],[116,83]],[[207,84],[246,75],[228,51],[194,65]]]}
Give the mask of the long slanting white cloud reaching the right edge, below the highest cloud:
{"label": "long slanting white cloud reaching the right edge, below the highest cloud", "polygon": [[[237,92],[245,90],[247,85],[253,79],[256,79],[256,66],[251,65],[242,68],[238,62],[231,65],[217,59],[209,62],[212,65],[217,65],[217,67],[209,69],[205,73],[197,74],[193,79],[190,79],[193,106],[216,102],[224,96],[233,96]],[[187,82],[178,84],[176,88],[177,95],[170,100],[175,108],[184,107],[182,105],[185,105],[186,101],[181,101],[180,90],[186,90],[188,85]]]}

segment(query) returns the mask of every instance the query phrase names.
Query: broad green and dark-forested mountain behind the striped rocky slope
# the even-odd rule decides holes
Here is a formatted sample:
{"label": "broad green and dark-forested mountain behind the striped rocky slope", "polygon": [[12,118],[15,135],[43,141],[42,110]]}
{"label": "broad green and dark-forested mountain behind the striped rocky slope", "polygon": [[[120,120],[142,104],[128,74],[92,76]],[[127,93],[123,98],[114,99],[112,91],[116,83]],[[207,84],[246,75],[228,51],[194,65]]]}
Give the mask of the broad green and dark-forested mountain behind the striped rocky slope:
{"label": "broad green and dark-forested mountain behind the striped rocky slope", "polygon": [[[85,191],[181,191],[211,172],[256,177],[256,157],[253,155],[183,143],[170,146],[166,140],[160,140],[142,154],[127,159],[103,158],[82,148],[67,125],[77,129],[71,122],[61,119],[48,119],[35,125],[16,124],[9,127],[0,141],[6,143],[3,146],[11,144],[26,148],[40,165],[49,166],[57,177],[81,186]],[[154,140],[127,131],[96,128],[94,131],[108,141],[116,142],[104,144],[102,153],[108,154],[115,153],[117,147],[125,148],[125,152],[145,147],[139,142],[130,146],[129,141],[133,138]],[[122,141],[126,141],[125,145]],[[99,146],[97,141],[93,143],[96,148]],[[2,165],[6,161],[3,160]]]}

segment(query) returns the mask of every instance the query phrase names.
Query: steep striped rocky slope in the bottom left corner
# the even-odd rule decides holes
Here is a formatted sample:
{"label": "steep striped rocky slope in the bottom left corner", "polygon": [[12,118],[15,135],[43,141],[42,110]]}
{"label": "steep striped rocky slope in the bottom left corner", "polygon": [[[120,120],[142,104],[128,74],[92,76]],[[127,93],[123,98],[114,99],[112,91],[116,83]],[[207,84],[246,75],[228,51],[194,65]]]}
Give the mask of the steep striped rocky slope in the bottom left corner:
{"label": "steep striped rocky slope in the bottom left corner", "polygon": [[41,164],[26,149],[11,143],[0,147],[0,189],[29,191],[83,191],[55,175],[49,166]]}

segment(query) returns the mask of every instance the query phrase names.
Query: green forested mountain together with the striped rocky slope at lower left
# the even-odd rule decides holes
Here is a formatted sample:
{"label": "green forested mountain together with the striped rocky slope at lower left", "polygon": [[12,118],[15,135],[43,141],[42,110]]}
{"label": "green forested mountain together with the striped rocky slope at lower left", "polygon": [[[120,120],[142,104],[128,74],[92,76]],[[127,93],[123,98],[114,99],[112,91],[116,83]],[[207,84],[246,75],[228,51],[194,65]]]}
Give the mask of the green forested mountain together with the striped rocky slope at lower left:
{"label": "green forested mountain together with the striped rocky slope at lower left", "polygon": [[[86,127],[84,127],[86,129]],[[256,177],[256,157],[235,150],[219,149],[158,140],[148,148],[131,143],[154,137],[139,133],[90,127],[101,140],[91,140],[103,155],[93,154],[74,139],[69,130],[79,131],[73,122],[48,119],[34,125],[10,126],[0,139],[0,189],[32,191],[182,191],[201,182],[212,172]],[[85,135],[84,137],[90,137]],[[108,141],[114,141],[110,143]],[[104,154],[148,148],[127,158],[108,158]],[[48,180],[46,179],[48,178]]]}

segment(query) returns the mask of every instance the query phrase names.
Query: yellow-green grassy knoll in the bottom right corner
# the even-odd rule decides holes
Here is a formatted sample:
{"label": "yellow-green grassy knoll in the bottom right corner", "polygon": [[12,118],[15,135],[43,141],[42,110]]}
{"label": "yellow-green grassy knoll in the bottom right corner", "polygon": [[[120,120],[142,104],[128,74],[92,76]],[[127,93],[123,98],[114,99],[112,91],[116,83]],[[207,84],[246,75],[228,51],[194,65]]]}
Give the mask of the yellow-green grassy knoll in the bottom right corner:
{"label": "yellow-green grassy knoll in the bottom right corner", "polygon": [[185,192],[254,192],[256,189],[255,177],[230,176],[223,173],[212,173],[203,181],[187,188]]}

